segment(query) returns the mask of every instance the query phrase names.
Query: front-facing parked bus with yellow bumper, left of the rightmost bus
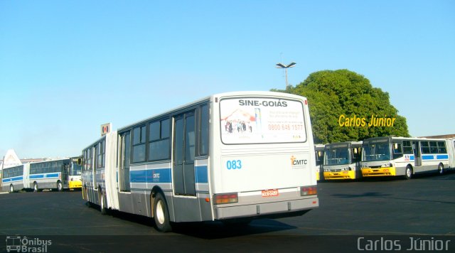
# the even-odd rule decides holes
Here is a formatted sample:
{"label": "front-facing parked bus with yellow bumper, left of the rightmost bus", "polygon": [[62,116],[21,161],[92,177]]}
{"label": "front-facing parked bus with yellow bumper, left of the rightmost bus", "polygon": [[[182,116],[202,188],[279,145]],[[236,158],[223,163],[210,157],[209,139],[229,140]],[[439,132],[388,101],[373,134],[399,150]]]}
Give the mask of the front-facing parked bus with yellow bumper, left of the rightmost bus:
{"label": "front-facing parked bus with yellow bumper, left of the rightmost bus", "polygon": [[324,179],[357,179],[362,176],[360,160],[362,141],[326,144],[324,149]]}

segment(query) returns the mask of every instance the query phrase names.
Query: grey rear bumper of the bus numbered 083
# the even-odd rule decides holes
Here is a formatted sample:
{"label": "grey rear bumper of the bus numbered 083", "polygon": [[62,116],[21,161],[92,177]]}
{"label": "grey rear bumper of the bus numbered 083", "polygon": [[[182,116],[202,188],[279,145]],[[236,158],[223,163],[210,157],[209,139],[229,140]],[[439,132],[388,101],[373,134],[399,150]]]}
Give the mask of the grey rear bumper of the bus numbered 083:
{"label": "grey rear bumper of the bus numbered 083", "polygon": [[291,217],[303,215],[313,208],[319,207],[319,198],[285,200],[271,203],[250,205],[215,206],[215,219],[235,219],[239,217]]}

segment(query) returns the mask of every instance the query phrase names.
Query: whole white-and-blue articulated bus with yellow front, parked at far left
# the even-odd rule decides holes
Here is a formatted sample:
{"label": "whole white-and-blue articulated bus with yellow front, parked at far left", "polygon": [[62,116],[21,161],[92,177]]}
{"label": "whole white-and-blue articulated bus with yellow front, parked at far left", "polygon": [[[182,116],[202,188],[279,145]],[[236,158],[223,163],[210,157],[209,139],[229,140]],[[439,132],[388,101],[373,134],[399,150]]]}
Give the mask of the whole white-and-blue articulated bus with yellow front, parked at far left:
{"label": "whole white-and-blue articulated bus with yellow front, parked at far left", "polygon": [[82,167],[79,157],[26,163],[3,169],[1,188],[14,193],[17,190],[80,189]]}

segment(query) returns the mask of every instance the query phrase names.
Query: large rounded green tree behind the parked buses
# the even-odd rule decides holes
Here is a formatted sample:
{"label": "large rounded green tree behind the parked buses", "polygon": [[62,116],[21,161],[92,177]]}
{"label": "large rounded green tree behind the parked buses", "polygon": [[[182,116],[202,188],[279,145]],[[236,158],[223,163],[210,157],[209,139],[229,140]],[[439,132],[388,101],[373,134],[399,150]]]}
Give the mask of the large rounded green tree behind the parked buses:
{"label": "large rounded green tree behind the parked buses", "polygon": [[[389,94],[373,87],[370,80],[355,72],[314,72],[304,82],[288,87],[284,92],[308,99],[315,143],[360,141],[375,136],[410,136],[406,118],[398,115],[398,110],[390,104]],[[340,122],[341,115],[344,118]],[[372,115],[395,118],[395,122],[393,126],[368,126]],[[353,117],[363,119],[365,126],[341,126],[346,119]]]}

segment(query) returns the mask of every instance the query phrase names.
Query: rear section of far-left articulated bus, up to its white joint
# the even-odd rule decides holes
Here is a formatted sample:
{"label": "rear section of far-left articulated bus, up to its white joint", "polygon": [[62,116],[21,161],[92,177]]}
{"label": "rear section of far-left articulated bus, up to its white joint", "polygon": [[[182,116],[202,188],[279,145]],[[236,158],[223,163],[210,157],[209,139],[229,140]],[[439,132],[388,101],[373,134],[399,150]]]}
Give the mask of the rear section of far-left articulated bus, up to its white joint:
{"label": "rear section of far-left articulated bus, up to its white joint", "polygon": [[24,182],[26,181],[26,178],[28,178],[28,166],[29,164],[26,163],[19,166],[4,168],[2,171],[1,190],[14,193],[16,190],[27,188],[28,185],[25,186]]}

